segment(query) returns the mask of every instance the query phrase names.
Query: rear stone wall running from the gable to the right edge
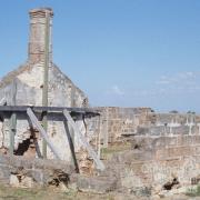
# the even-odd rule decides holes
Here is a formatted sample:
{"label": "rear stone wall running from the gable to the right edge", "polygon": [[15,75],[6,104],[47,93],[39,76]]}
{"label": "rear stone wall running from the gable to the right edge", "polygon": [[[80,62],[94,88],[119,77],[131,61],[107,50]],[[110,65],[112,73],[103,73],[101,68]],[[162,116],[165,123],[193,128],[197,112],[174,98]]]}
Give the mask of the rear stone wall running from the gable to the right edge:
{"label": "rear stone wall running from the gable to the right edge", "polygon": [[97,129],[96,119],[91,119],[88,124],[93,127],[96,133],[101,132],[103,143],[107,140],[112,143],[128,136],[200,134],[200,116],[194,113],[156,113],[150,108],[99,107],[97,109],[101,114],[101,127]]}

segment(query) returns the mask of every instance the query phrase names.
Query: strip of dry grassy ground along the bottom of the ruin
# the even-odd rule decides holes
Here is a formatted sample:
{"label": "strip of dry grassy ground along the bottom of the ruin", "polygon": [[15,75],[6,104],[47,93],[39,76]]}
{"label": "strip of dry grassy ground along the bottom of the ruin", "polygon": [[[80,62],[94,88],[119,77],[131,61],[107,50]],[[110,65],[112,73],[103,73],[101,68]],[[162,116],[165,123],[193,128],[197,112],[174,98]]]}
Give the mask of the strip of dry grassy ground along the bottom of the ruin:
{"label": "strip of dry grassy ground along the bottom of the ruin", "polygon": [[[94,194],[76,192],[72,190],[60,191],[54,188],[21,189],[0,184],[0,200],[157,200],[156,198],[139,198],[122,193]],[[159,198],[160,199],[160,198]],[[200,197],[173,196],[162,200],[200,200]]]}

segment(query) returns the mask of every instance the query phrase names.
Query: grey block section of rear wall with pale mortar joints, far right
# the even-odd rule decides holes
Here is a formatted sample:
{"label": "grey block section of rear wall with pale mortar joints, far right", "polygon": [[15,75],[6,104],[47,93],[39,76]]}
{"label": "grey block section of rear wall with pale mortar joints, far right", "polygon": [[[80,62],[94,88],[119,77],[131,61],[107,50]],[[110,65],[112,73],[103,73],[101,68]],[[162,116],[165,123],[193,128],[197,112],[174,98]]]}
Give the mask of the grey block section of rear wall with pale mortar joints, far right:
{"label": "grey block section of rear wall with pale mortar joints, far right", "polygon": [[149,126],[139,126],[137,134],[200,134],[200,116],[194,113],[150,113],[147,121]]}

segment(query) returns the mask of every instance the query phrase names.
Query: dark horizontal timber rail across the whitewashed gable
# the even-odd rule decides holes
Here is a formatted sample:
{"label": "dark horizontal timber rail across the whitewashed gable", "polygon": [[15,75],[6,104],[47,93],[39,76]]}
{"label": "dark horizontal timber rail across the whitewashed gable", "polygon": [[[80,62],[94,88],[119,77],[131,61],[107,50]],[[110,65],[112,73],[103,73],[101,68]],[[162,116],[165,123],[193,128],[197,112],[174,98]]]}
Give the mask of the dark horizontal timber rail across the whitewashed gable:
{"label": "dark horizontal timber rail across the whitewashed gable", "polygon": [[52,113],[58,112],[62,113],[63,110],[68,110],[72,116],[81,116],[84,118],[92,118],[96,116],[100,116],[98,110],[92,108],[72,108],[72,107],[34,107],[34,106],[0,106],[0,112],[16,112],[16,113],[27,113],[27,109],[31,108],[36,113]]}

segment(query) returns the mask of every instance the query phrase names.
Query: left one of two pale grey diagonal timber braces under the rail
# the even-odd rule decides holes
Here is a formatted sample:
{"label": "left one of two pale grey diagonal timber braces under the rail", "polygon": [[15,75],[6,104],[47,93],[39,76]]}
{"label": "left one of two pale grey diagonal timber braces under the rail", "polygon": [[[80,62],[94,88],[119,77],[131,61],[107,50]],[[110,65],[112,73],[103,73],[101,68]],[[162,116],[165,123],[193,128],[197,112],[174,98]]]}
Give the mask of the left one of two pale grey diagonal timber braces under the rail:
{"label": "left one of two pale grey diagonal timber braces under the rail", "polygon": [[52,144],[52,142],[49,140],[48,134],[46,132],[46,130],[43,129],[43,127],[39,123],[37,117],[34,116],[33,111],[28,108],[27,109],[27,114],[29,116],[31,122],[33,126],[36,126],[36,128],[39,130],[39,132],[41,133],[43,140],[46,140],[47,144],[49,146],[49,148],[51,149],[51,151],[54,153],[57,159],[60,159],[59,153],[57,152],[54,146]]}

